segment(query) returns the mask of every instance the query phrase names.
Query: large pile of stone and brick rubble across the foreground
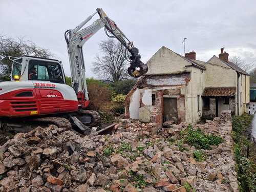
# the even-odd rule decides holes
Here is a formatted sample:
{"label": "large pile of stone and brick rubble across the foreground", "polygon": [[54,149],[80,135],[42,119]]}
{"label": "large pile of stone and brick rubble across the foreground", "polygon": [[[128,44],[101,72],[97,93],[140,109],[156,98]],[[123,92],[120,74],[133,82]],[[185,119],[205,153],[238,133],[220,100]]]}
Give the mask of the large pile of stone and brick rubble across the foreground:
{"label": "large pile of stone and brick rubble across the foreground", "polygon": [[224,139],[204,150],[202,161],[193,156],[195,146],[181,142],[187,125],[155,135],[154,123],[136,121],[120,122],[112,135],[83,138],[55,125],[18,133],[0,146],[0,191],[238,191],[230,119],[192,124]]}

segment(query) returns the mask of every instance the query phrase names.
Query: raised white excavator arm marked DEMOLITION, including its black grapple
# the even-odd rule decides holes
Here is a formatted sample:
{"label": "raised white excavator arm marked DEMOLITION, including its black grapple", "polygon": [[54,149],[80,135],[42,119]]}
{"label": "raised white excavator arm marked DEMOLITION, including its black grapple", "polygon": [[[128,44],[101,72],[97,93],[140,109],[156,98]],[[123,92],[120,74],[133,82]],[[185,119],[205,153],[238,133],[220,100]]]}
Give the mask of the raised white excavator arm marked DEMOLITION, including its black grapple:
{"label": "raised white excavator arm marked DEMOLITION, including its black grapple", "polygon": [[[100,18],[97,19],[92,25],[82,29],[82,27],[87,24],[96,13],[99,14]],[[133,42],[127,39],[124,33],[117,27],[115,22],[111,20],[103,12],[102,9],[97,9],[75,29],[67,30],[65,32],[65,39],[68,45],[68,53],[70,59],[72,86],[78,95],[78,99],[81,97],[81,100],[79,101],[81,104],[86,102],[84,99],[88,100],[85,76],[86,69],[84,65],[82,47],[87,40],[89,40],[97,31],[103,27],[105,27],[108,32],[117,38],[126,48],[126,50],[131,53],[131,56],[126,58],[130,61],[131,65],[128,68],[129,75],[138,78],[147,72],[147,66],[140,60],[141,56],[139,55],[139,50],[133,46]],[[136,68],[139,69],[136,70]],[[82,97],[83,94],[84,98]],[[87,104],[85,104],[85,106],[87,106]]]}

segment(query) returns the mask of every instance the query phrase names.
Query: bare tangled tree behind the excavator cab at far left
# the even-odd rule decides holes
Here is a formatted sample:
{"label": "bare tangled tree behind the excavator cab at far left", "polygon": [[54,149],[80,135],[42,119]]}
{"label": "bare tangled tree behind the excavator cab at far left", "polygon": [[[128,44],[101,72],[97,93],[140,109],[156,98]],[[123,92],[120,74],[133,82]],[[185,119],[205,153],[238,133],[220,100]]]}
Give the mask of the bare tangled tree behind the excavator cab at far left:
{"label": "bare tangled tree behind the excavator cab at far left", "polygon": [[[0,55],[20,57],[30,55],[35,57],[52,58],[54,56],[49,50],[37,47],[31,40],[25,40],[24,37],[14,39],[0,34]],[[12,61],[3,59],[0,61],[0,76],[10,76],[12,71]]]}

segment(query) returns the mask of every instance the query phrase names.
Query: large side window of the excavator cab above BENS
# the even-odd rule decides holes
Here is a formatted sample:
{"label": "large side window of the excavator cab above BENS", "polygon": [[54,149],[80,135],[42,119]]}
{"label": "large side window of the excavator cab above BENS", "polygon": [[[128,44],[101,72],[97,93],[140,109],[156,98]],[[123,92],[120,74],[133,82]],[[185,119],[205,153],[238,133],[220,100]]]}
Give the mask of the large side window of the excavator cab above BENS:
{"label": "large side window of the excavator cab above BENS", "polygon": [[[51,82],[64,83],[61,67],[58,63],[40,60],[30,60],[29,69],[30,80],[49,80]],[[36,69],[36,72],[33,72],[32,69]],[[33,78],[31,78],[32,75]]]}

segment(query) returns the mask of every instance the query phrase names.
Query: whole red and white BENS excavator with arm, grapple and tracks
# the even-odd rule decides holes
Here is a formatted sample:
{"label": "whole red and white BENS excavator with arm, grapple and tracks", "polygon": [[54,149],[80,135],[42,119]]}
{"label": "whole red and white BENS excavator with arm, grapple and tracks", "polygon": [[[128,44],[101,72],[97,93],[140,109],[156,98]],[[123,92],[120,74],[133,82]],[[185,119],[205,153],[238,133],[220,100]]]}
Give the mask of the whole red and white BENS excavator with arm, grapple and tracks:
{"label": "whole red and white BENS excavator with arm, grapple and tracks", "polygon": [[[100,18],[82,28],[96,13]],[[27,55],[19,58],[0,57],[0,60],[8,57],[13,61],[11,80],[0,82],[0,129],[29,132],[37,126],[55,124],[69,130],[74,125],[88,135],[88,127],[97,125],[100,115],[85,110],[90,100],[82,47],[103,27],[106,35],[118,39],[125,48],[125,55],[120,62],[124,59],[130,62],[127,69],[129,75],[135,78],[144,75],[148,68],[140,60],[139,50],[114,20],[102,9],[96,9],[76,28],[65,32],[72,87],[66,84],[61,61]]]}

